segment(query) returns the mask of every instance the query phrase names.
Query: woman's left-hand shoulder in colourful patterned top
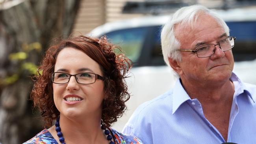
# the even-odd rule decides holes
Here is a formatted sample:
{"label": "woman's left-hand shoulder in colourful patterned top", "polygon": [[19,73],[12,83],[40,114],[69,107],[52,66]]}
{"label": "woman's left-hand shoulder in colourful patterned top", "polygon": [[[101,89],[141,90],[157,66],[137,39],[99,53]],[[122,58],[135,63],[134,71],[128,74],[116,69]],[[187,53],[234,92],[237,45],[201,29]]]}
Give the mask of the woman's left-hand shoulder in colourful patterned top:
{"label": "woman's left-hand shoulder in colourful patterned top", "polygon": [[54,139],[54,137],[52,137],[51,133],[47,129],[44,129],[35,135],[35,137],[24,142],[23,144],[58,144],[58,142]]}

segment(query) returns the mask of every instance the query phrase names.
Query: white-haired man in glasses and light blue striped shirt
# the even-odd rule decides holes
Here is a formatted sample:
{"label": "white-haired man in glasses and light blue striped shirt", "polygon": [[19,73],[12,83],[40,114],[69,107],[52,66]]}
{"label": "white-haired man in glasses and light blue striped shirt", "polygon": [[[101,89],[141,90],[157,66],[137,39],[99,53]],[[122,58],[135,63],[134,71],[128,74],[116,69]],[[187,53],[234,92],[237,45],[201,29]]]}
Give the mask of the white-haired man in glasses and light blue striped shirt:
{"label": "white-haired man in glasses and light blue striped shirt", "polygon": [[203,6],[176,11],[161,32],[174,88],[139,106],[123,129],[144,144],[256,143],[256,86],[232,73],[226,23]]}

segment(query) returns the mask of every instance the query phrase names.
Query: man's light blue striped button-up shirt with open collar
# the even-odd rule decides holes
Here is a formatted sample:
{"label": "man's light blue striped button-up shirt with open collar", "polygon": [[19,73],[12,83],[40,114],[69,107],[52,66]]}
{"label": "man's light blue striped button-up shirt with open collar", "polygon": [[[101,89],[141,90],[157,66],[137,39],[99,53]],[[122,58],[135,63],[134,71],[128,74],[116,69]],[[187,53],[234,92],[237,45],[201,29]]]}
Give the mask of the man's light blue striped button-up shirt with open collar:
{"label": "man's light blue striped button-up shirt with open collar", "polygon": [[[235,93],[227,142],[256,144],[256,86],[242,83],[233,73]],[[205,118],[200,102],[191,100],[177,80],[174,88],[143,103],[132,114],[122,133],[143,144],[221,144],[221,133]]]}

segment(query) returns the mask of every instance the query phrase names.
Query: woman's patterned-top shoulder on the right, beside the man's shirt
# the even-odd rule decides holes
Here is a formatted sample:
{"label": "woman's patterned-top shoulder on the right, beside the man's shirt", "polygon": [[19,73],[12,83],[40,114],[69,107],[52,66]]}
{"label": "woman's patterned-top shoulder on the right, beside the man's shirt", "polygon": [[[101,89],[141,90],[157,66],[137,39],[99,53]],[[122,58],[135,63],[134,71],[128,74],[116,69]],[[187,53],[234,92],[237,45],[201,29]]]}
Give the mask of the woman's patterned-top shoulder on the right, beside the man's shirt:
{"label": "woman's patterned-top shoulder on the right, beside the man's shirt", "polygon": [[141,140],[137,137],[119,133],[118,131],[116,131],[113,128],[110,128],[110,129],[113,133],[115,142],[117,144],[142,144]]}

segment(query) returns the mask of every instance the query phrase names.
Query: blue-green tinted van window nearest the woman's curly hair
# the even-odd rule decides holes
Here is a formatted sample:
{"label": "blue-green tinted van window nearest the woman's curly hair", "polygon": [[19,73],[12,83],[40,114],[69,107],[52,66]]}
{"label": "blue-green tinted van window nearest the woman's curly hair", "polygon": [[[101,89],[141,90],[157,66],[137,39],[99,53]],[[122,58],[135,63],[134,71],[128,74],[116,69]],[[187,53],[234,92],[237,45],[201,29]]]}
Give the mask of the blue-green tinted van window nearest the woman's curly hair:
{"label": "blue-green tinted van window nearest the woman's curly hair", "polygon": [[119,45],[129,59],[136,62],[141,55],[146,30],[146,28],[130,28],[111,31],[105,35],[113,44]]}

